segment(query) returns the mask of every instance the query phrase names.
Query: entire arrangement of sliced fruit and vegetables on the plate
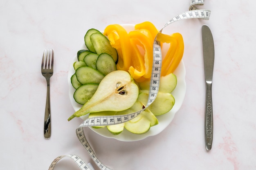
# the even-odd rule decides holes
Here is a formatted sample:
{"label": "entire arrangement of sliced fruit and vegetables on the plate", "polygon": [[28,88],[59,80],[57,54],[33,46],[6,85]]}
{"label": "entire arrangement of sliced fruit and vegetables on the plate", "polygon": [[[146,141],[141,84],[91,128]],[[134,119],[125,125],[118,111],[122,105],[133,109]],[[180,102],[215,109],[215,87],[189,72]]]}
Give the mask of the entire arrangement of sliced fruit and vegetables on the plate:
{"label": "entire arrangement of sliced fruit and vegetables on the plate", "polygon": [[[77,52],[78,61],[73,65],[75,74],[71,77],[76,89],[74,100],[83,106],[68,120],[88,113],[89,118],[123,115],[145,107],[153,65],[153,41],[157,33],[151,22],[137,24],[130,32],[119,24],[107,26],[103,33],[94,28],[88,30],[84,37],[88,50]],[[162,61],[157,97],[136,118],[107,126],[114,135],[124,129],[136,134],[146,133],[151,126],[158,124],[156,116],[170,111],[175,103],[171,92],[177,85],[177,78],[173,72],[183,56],[183,38],[180,33],[160,33],[157,40],[161,46],[170,44]]]}

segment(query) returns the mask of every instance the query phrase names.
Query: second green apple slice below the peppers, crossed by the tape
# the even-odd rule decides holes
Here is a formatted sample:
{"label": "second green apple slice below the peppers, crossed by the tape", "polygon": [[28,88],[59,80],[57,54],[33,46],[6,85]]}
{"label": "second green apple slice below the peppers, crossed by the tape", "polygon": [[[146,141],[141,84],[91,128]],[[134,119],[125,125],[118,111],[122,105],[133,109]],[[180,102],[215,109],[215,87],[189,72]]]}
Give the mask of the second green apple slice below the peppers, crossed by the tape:
{"label": "second green apple slice below the peppers, crossed by the tape", "polygon": [[[148,102],[148,90],[141,90],[138,96],[138,101],[141,101],[144,105]],[[158,92],[154,102],[148,106],[148,109],[155,115],[162,115],[167,113],[173,108],[175,98],[170,93]]]}

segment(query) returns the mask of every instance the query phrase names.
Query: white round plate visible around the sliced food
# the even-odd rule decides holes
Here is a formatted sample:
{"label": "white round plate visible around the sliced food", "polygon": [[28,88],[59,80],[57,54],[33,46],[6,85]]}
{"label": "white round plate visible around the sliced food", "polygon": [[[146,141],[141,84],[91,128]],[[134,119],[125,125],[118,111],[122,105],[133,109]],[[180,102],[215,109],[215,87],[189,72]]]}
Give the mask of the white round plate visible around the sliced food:
{"label": "white round plate visible around the sliced food", "polygon": [[[124,28],[128,32],[132,31],[134,29],[134,25],[125,24],[125,25],[122,25],[122,26],[124,26]],[[87,48],[86,48],[85,45],[83,45],[81,47],[81,49],[87,49]],[[164,48],[162,48],[162,49],[164,49]],[[74,57],[74,59],[70,63],[70,70],[68,72],[68,85],[69,85],[69,97],[70,97],[71,104],[72,104],[74,110],[77,111],[82,107],[82,105],[79,105],[78,103],[75,102],[75,100],[73,98],[73,94],[75,92],[75,89],[74,89],[74,87],[72,86],[72,84],[70,82],[71,76],[75,73],[74,68],[73,68],[73,63],[75,61],[77,61],[76,56]],[[175,98],[175,105],[173,106],[171,111],[169,111],[168,113],[166,113],[164,115],[161,115],[161,116],[157,116],[157,119],[158,119],[159,123],[156,126],[152,126],[147,133],[142,134],[142,135],[137,135],[137,134],[130,133],[129,131],[124,129],[124,131],[122,133],[120,133],[119,135],[112,135],[106,127],[101,128],[101,129],[94,129],[94,128],[90,127],[90,129],[92,129],[92,131],[94,131],[94,132],[96,132],[99,135],[102,135],[104,137],[115,138],[117,140],[126,141],[126,142],[128,142],[128,141],[138,141],[138,140],[145,139],[146,137],[154,136],[154,135],[159,134],[173,120],[173,118],[175,116],[175,113],[180,109],[180,107],[182,105],[182,102],[184,100],[184,96],[185,96],[185,93],[186,93],[186,82],[185,82],[186,71],[185,71],[185,66],[184,66],[183,61],[180,62],[180,65],[177,67],[174,74],[177,76],[177,86],[171,94]],[[86,118],[88,118],[88,115],[81,116],[81,118],[83,120],[85,120]]]}

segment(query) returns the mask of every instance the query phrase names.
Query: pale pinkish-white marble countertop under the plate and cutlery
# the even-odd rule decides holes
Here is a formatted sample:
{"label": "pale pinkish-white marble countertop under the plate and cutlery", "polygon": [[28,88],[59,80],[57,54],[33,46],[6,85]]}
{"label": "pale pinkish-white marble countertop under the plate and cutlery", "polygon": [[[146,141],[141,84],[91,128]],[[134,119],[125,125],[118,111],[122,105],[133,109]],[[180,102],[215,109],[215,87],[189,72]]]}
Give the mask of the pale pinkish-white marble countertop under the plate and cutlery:
{"label": "pale pinkish-white marble countertop under the plate and cutlery", "polygon": [[[113,170],[253,170],[256,169],[256,44],[254,1],[205,0],[210,20],[182,20],[164,29],[184,38],[186,95],[164,131],[136,142],[85,135],[97,157]],[[75,154],[92,163],[75,130],[67,74],[90,28],[150,21],[162,28],[189,9],[189,0],[2,0],[0,2],[1,169],[47,170],[60,155]],[[204,144],[205,85],[201,26],[213,33],[213,146]],[[43,136],[46,82],[43,50],[53,48],[51,78],[52,137]],[[69,159],[54,170],[78,170]]]}

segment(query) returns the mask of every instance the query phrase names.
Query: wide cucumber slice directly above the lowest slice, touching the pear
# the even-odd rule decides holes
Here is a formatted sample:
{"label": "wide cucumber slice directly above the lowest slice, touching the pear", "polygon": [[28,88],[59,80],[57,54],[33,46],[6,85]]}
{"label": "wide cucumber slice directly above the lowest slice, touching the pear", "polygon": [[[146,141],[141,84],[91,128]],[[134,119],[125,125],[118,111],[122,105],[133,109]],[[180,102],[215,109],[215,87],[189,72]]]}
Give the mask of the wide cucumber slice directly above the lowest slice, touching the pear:
{"label": "wide cucumber slice directly above the lowest slice, touching the pear", "polygon": [[88,66],[79,67],[76,70],[76,78],[82,84],[88,83],[100,83],[101,80],[104,78],[104,75],[101,72],[90,68]]}

